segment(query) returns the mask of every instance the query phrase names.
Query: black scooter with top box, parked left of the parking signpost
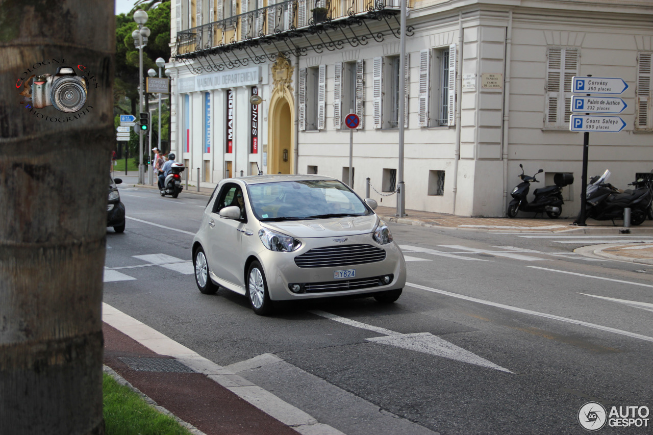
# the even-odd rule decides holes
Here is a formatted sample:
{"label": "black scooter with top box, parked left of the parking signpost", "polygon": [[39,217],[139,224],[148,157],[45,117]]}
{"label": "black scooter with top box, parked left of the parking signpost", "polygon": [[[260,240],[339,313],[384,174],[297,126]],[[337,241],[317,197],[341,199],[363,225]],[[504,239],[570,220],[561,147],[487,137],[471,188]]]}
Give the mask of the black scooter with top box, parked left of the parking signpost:
{"label": "black scooter with top box, parked left of the parking signpost", "polygon": [[535,212],[536,214],[546,213],[551,219],[560,217],[560,214],[562,213],[562,204],[564,204],[564,201],[562,201],[562,187],[573,184],[573,174],[556,174],[553,178],[553,182],[556,185],[547,185],[540,189],[535,189],[533,191],[535,195],[534,201],[528,202],[526,196],[528,195],[530,184],[539,183],[539,181],[535,180],[535,175],[544,172],[544,170],[540,169],[534,176],[528,176],[524,174],[524,167],[521,163],[519,164],[519,167],[522,169],[522,174],[519,176],[519,178],[522,179],[522,182],[510,193],[513,200],[508,204],[508,217],[517,216],[519,210],[522,212]]}

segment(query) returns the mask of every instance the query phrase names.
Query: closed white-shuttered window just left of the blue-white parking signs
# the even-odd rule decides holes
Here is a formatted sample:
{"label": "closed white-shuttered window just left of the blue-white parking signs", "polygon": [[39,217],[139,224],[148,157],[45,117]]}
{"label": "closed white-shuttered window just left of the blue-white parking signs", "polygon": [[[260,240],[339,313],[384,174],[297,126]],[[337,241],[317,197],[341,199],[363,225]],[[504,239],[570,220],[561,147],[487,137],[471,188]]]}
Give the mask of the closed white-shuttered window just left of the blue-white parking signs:
{"label": "closed white-shuttered window just left of the blue-white parking signs", "polygon": [[579,74],[579,56],[578,48],[549,47],[547,50],[545,127],[569,126],[571,78]]}

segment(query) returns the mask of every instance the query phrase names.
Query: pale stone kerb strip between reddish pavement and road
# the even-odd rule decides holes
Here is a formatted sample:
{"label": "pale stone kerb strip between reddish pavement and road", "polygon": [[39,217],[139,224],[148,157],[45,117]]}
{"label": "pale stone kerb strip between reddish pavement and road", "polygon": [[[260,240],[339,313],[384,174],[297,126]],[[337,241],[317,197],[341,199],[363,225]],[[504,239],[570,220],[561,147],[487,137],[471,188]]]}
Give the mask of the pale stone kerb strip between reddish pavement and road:
{"label": "pale stone kerb strip between reddish pavement and road", "polygon": [[205,374],[208,378],[259,408],[259,410],[272,415],[284,425],[292,427],[300,434],[344,435],[340,430],[318,423],[308,413],[295,408],[295,406],[281,400],[258,385],[254,385],[242,376],[215,364],[215,362],[202,357],[199,353],[182,346],[172,338],[161,334],[161,332],[104,302],[102,303],[102,320],[143,346],[148,347],[148,349],[159,353],[159,355],[175,357],[196,372]]}

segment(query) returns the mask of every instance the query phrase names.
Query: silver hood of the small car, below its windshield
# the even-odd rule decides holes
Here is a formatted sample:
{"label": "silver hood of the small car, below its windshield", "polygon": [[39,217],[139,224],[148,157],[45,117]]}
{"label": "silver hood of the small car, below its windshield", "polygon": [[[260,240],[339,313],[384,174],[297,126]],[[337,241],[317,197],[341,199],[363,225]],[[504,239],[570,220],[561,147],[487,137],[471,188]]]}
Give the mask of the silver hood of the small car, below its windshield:
{"label": "silver hood of the small car, below its windshield", "polygon": [[262,222],[261,225],[295,238],[340,237],[372,233],[377,220],[377,216],[371,214],[307,221]]}

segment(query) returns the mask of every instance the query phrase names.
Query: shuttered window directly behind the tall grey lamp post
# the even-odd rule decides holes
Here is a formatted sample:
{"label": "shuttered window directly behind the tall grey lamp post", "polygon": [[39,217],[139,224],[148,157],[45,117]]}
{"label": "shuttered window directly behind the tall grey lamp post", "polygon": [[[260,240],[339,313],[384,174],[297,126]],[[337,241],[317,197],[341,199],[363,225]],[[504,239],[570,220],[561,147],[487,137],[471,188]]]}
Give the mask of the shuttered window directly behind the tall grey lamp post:
{"label": "shuttered window directly behind the tall grey lamp post", "polygon": [[[409,55],[406,54],[404,74],[406,76],[404,98],[404,126],[408,125],[408,88],[409,88]],[[374,128],[396,128],[399,126],[399,84],[400,57],[387,56],[374,58],[372,72],[372,105],[374,106]]]}

